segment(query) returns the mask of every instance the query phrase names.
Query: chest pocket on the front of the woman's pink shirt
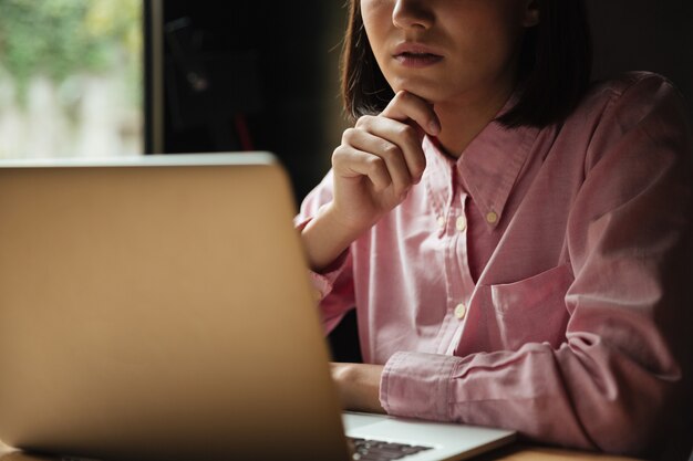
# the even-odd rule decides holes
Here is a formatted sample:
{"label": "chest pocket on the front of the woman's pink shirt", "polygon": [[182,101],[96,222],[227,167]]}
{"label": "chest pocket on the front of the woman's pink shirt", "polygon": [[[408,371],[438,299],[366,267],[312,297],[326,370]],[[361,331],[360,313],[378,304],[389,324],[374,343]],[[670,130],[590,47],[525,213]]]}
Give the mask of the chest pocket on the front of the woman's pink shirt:
{"label": "chest pocket on the front of the woman's pink shirt", "polygon": [[516,350],[526,343],[558,347],[565,342],[569,318],[565,300],[572,281],[572,271],[562,264],[518,282],[490,285],[503,347]]}

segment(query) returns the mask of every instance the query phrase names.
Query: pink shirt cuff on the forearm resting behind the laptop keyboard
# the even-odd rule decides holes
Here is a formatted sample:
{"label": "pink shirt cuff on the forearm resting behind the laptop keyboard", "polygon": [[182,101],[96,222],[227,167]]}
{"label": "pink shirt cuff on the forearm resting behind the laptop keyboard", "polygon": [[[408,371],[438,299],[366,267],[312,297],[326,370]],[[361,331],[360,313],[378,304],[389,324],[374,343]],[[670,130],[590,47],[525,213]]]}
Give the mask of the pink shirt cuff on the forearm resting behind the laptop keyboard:
{"label": "pink shirt cuff on the forearm resting behind the laptop keyboard", "polygon": [[449,420],[449,384],[459,357],[395,353],[383,370],[380,402],[389,415]]}

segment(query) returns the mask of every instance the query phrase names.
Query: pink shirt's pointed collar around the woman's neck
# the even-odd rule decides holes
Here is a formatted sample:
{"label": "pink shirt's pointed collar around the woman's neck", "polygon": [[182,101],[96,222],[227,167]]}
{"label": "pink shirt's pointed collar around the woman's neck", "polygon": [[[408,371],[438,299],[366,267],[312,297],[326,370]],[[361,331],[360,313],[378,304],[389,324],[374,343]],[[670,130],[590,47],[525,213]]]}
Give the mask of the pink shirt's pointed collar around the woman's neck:
{"label": "pink shirt's pointed collar around the woman's neck", "polygon": [[439,169],[447,177],[444,184],[453,187],[455,184],[457,187],[464,185],[482,219],[494,229],[503,219],[513,187],[538,134],[539,128],[506,128],[493,121],[457,160],[444,154],[435,138],[424,140],[424,150],[428,151],[430,160],[446,166]]}

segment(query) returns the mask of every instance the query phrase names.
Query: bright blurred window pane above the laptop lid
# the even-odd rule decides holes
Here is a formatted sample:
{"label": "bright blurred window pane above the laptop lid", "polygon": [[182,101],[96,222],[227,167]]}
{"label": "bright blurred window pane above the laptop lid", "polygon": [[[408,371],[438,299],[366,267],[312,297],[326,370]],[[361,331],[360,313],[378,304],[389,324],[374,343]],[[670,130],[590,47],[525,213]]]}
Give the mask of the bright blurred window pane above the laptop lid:
{"label": "bright blurred window pane above the laptop lid", "polygon": [[0,0],[0,158],[144,151],[142,0]]}

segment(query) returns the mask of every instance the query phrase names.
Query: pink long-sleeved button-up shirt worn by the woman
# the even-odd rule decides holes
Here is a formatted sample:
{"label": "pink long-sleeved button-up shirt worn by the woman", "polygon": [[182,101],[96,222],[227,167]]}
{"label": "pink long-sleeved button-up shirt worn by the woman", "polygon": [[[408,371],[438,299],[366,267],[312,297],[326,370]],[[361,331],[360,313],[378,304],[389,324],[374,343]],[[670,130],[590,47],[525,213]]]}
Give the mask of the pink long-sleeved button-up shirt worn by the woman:
{"label": "pink long-sleeved button-up shirt worn by the woman", "polygon": [[[562,126],[489,124],[459,160],[426,138],[406,201],[313,274],[328,332],[358,310],[385,410],[631,453],[671,428],[692,307],[685,117],[669,82],[631,73]],[[297,223],[331,189],[329,174]]]}

